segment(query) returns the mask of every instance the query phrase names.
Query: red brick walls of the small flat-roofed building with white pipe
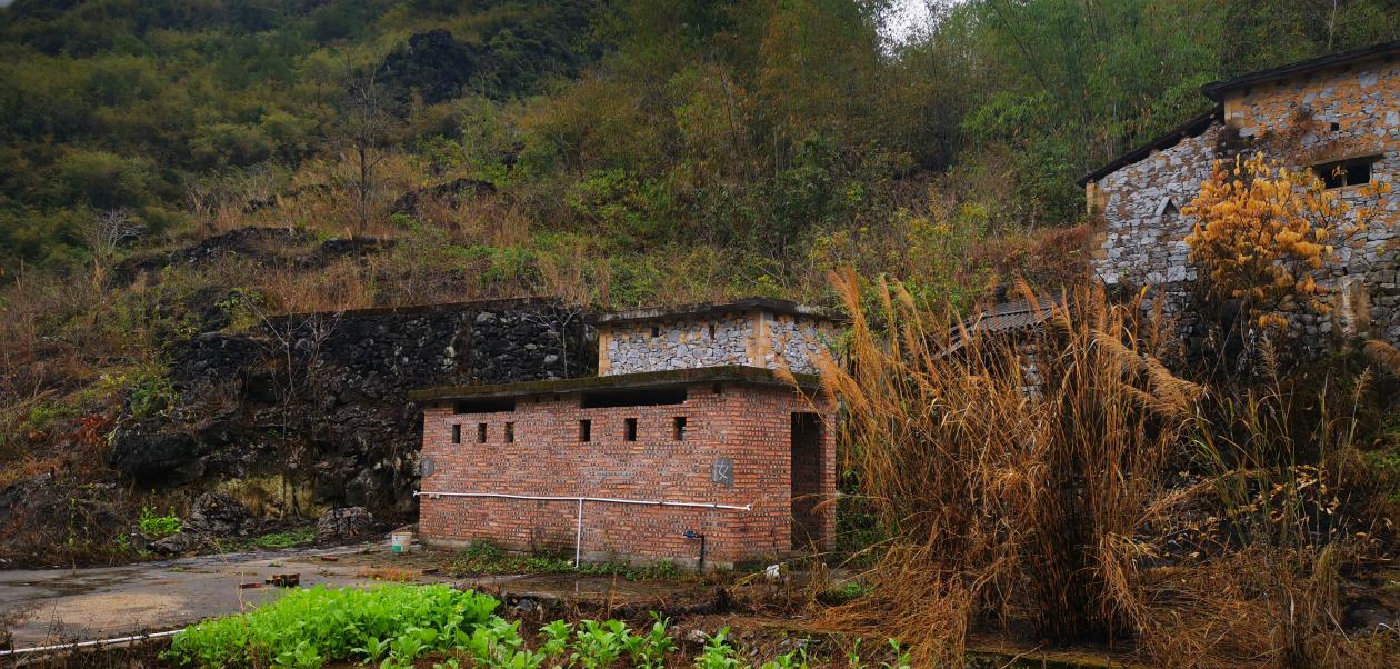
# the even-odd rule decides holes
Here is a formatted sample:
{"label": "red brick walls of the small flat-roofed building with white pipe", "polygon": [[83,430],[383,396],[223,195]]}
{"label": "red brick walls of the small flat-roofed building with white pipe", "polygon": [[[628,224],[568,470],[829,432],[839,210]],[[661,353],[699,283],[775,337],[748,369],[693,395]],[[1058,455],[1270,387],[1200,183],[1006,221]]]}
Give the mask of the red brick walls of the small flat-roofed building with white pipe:
{"label": "red brick walls of the small flat-roofed building with white pipe", "polygon": [[[594,560],[693,564],[699,542],[682,536],[693,530],[707,535],[708,564],[770,558],[792,543],[791,414],[811,410],[792,390],[748,383],[692,386],[683,403],[661,406],[582,409],[577,393],[521,397],[514,411],[498,413],[433,406],[424,411],[423,456],[434,473],[423,490],[752,504],[731,511],[585,502],[582,551]],[[832,494],[834,416],[822,414],[812,486]],[[686,418],[682,439],[673,432],[678,416]],[[627,418],[637,420],[636,441],[626,439]],[[591,421],[589,442],[580,441],[581,420]],[[454,424],[462,425],[461,444],[452,442]],[[711,480],[717,458],[734,462],[732,486]],[[571,501],[424,497],[419,528],[438,544],[487,539],[512,550],[571,553],[577,511]],[[818,512],[813,522],[829,546],[834,518]]]}

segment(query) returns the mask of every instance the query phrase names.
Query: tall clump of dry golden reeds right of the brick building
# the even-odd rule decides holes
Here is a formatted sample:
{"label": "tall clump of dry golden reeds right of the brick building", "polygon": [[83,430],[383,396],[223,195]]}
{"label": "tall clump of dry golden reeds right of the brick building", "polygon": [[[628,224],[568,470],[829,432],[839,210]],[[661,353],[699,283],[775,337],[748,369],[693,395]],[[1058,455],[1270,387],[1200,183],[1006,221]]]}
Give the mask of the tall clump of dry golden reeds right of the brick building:
{"label": "tall clump of dry golden reeds right of the brick building", "polygon": [[920,312],[897,284],[874,287],[874,314],[853,273],[834,284],[853,315],[851,360],[822,372],[847,406],[862,493],[897,539],[876,596],[833,621],[858,623],[868,606],[921,621],[896,631],[927,658],[1014,612],[1050,638],[1134,635],[1148,549],[1133,537],[1170,508],[1161,474],[1201,395],[1152,355],[1162,337],[1140,305],[1093,288],[1047,302],[1021,286],[1051,316],[998,337]]}

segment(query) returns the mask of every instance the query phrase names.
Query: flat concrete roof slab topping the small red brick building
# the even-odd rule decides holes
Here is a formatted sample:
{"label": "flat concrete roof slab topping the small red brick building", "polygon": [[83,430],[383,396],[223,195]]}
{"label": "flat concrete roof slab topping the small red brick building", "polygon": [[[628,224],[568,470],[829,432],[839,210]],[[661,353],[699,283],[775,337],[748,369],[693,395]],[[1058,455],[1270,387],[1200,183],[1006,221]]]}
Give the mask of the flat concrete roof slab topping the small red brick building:
{"label": "flat concrete roof slab topping the small red brick building", "polygon": [[526,395],[571,393],[589,390],[636,390],[647,388],[678,388],[697,383],[742,383],[792,388],[792,381],[804,390],[820,386],[815,374],[783,375],[766,367],[725,365],[655,372],[616,374],[610,376],[581,376],[554,381],[524,381],[475,386],[426,388],[410,390],[413,402],[455,399],[521,397]]}

